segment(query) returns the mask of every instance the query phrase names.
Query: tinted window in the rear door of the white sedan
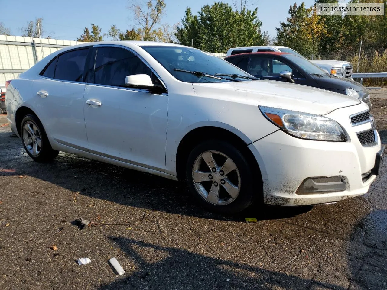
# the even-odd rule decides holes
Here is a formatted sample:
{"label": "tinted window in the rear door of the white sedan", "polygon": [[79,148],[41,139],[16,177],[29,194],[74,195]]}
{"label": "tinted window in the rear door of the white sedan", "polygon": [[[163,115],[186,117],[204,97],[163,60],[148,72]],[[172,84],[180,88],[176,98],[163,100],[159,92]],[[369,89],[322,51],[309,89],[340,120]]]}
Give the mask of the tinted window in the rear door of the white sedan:
{"label": "tinted window in the rear door of the white sedan", "polygon": [[89,48],[63,53],[58,57],[54,78],[82,82],[83,69]]}

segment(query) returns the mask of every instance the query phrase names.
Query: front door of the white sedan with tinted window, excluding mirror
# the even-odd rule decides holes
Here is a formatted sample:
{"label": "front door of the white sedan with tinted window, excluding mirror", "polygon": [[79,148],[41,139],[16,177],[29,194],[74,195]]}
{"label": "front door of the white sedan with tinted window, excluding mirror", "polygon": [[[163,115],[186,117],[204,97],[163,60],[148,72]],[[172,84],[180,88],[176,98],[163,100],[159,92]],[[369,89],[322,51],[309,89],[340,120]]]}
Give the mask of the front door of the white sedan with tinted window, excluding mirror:
{"label": "front door of the white sedan with tinted window, excluding mirror", "polygon": [[158,82],[128,49],[98,46],[83,104],[89,152],[164,171],[168,95],[125,87],[125,77],[135,74]]}

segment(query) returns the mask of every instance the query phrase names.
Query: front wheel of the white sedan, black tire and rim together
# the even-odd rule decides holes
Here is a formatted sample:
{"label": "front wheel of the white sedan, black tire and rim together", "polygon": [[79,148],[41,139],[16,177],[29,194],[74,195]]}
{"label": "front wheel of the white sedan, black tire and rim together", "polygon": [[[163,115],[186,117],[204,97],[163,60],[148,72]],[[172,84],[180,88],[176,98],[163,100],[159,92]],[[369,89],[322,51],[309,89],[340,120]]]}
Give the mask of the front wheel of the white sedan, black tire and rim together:
{"label": "front wheel of the white sedan, black tire and rim together", "polygon": [[[228,142],[208,140],[188,156],[186,177],[191,193],[205,208],[219,213],[238,213],[262,192],[253,192],[253,170],[243,154]],[[259,178],[255,177],[255,180]]]}

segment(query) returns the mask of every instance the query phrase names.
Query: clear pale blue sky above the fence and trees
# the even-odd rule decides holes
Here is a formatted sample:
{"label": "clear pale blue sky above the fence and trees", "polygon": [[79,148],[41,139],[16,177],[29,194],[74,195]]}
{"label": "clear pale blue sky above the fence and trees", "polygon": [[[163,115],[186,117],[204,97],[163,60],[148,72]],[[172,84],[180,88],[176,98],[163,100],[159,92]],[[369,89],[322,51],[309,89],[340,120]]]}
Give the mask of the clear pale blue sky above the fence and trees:
{"label": "clear pale blue sky above the fence and trees", "polygon": [[[139,0],[141,1],[141,0]],[[130,19],[130,11],[126,7],[131,3],[128,0],[67,0],[57,2],[55,0],[17,0],[17,10],[14,1],[1,1],[0,22],[12,30],[12,34],[21,35],[20,28],[26,26],[28,20],[43,17],[45,30],[53,32],[53,38],[75,40],[79,37],[85,26],[91,27],[94,23],[102,28],[102,32],[108,32],[111,25],[115,24],[119,29],[125,30],[135,23]],[[166,15],[162,22],[174,24],[180,22],[187,6],[196,14],[203,5],[212,4],[214,1],[195,0],[165,0]],[[232,0],[224,1],[232,5]],[[262,31],[269,31],[271,36],[276,35],[276,27],[279,22],[288,17],[289,5],[302,3],[302,1],[289,0],[258,0],[258,16],[262,20]],[[305,0],[307,7],[313,4],[313,0]],[[60,3],[60,4],[59,4]],[[13,13],[9,13],[13,11]]]}

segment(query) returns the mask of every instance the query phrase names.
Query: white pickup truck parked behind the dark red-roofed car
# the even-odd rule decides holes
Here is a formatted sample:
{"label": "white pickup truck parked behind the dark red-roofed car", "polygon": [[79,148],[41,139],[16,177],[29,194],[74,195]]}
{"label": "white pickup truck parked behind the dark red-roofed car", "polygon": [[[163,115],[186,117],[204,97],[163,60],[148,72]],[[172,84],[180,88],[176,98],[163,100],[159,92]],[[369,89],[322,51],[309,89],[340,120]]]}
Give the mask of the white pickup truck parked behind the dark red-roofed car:
{"label": "white pickup truck parked behind the dark red-roofed car", "polygon": [[[259,51],[278,51],[278,52],[287,52],[294,55],[299,55],[305,58],[303,55],[295,51],[294,49],[288,48],[286,46],[279,45],[266,45],[266,46],[244,46],[244,47],[235,47],[230,48],[227,51],[227,56],[237,55],[240,53],[249,53],[249,52],[259,52]],[[335,75],[336,77],[352,78],[353,65],[349,61],[340,61],[340,60],[309,60],[320,68],[326,70],[328,73]]]}

